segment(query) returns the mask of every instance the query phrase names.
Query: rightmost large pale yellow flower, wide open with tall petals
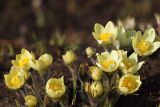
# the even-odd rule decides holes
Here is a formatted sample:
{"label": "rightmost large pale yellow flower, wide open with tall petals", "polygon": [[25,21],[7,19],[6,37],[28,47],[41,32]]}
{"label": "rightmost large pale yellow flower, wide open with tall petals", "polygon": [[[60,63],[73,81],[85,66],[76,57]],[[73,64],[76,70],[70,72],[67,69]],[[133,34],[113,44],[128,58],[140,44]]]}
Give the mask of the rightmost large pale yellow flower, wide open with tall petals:
{"label": "rightmost large pale yellow flower, wide open with tall petals", "polygon": [[148,56],[155,52],[160,47],[160,42],[154,42],[155,30],[147,29],[143,36],[140,31],[132,37],[132,46],[136,54],[139,56]]}

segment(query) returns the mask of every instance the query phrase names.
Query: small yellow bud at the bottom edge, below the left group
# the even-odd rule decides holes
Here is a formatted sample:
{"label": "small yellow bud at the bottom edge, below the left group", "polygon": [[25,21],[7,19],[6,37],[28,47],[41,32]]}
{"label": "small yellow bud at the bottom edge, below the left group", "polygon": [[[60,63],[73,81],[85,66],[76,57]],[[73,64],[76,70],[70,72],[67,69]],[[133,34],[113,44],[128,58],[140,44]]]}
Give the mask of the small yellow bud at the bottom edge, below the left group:
{"label": "small yellow bud at the bottom edge, below the left group", "polygon": [[37,105],[37,98],[33,95],[27,95],[24,99],[27,107],[35,107]]}

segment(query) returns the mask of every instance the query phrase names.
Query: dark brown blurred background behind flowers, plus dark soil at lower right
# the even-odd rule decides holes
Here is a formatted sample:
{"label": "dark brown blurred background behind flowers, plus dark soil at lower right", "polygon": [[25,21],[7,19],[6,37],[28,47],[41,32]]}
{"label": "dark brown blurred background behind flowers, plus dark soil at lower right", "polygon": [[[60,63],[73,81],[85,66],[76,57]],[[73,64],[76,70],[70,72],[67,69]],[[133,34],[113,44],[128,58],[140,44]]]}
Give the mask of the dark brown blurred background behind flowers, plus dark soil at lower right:
{"label": "dark brown blurred background behind flowers, plus dark soil at lower right", "polygon": [[[95,23],[105,25],[111,20],[123,24],[126,29],[142,31],[153,26],[159,35],[155,14],[160,14],[160,0],[0,0],[0,72],[3,71],[0,81],[11,66],[10,60],[21,48],[32,50],[36,55],[50,52],[57,58],[61,58],[65,50],[73,49],[82,57],[86,47],[96,47],[92,37]],[[146,90],[140,90],[140,97],[122,96],[117,107],[144,107],[144,103],[145,107],[154,107],[158,104],[160,76],[155,75],[160,74],[160,64],[156,58],[151,57],[147,62],[151,66],[142,68],[153,71],[141,73],[142,87]],[[145,81],[146,78],[149,80]],[[148,86],[151,84],[153,86]],[[5,102],[8,96],[2,95],[1,87],[2,84],[0,102],[1,98]]]}

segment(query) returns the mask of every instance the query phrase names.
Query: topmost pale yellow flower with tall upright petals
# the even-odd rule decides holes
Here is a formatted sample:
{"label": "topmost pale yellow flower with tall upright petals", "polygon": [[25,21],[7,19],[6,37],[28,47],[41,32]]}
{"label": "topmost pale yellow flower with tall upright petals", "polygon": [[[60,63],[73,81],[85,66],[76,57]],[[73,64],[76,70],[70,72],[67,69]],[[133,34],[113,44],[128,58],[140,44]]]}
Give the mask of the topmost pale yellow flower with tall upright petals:
{"label": "topmost pale yellow flower with tall upright petals", "polygon": [[92,34],[99,44],[110,44],[117,38],[117,27],[111,21],[105,27],[96,23]]}

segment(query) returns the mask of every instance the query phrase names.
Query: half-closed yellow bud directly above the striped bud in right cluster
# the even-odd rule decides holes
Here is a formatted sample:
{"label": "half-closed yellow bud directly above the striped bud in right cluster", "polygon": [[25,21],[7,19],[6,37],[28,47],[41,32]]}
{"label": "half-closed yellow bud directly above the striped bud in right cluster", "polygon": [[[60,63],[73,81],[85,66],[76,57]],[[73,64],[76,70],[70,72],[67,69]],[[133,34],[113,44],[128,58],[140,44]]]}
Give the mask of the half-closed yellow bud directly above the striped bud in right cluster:
{"label": "half-closed yellow bud directly above the striped bud in right cluster", "polygon": [[102,70],[96,66],[92,66],[89,68],[89,71],[91,73],[91,77],[95,80],[98,81],[102,78]]}

